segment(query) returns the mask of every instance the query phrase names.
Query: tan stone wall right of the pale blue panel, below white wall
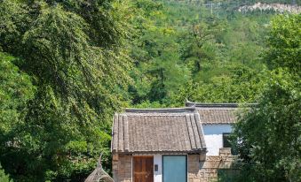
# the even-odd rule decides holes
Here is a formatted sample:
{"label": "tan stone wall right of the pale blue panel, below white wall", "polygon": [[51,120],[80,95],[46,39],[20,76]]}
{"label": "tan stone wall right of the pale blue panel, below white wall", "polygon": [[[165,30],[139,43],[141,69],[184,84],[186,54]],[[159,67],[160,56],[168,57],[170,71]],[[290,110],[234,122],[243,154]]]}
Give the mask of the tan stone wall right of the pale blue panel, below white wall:
{"label": "tan stone wall right of the pale blue panel, below white wall", "polygon": [[[235,156],[230,148],[220,148],[219,155],[188,155],[188,182],[210,182],[218,179],[218,169],[229,169]],[[200,160],[201,159],[201,160]]]}

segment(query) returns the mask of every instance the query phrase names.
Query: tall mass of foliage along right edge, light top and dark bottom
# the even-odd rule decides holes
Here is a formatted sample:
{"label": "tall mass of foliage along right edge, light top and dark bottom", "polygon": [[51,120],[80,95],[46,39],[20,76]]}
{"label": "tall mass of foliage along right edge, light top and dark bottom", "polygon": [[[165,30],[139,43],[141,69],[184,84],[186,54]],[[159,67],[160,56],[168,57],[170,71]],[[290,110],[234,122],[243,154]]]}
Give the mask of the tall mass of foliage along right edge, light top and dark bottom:
{"label": "tall mass of foliage along right edge, light top and dark bottom", "polygon": [[257,108],[235,126],[242,160],[238,181],[301,180],[300,25],[300,15],[273,19],[265,55],[273,71]]}

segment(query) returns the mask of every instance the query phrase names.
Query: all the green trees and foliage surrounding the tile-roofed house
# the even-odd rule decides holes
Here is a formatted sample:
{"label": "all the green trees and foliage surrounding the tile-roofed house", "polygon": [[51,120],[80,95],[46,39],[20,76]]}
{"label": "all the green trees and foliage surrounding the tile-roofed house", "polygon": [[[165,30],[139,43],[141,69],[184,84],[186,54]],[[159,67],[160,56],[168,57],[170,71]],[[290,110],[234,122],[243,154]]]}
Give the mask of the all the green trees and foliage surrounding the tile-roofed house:
{"label": "all the green trees and foliage surrounding the tile-roofed house", "polygon": [[109,172],[116,110],[189,99],[258,102],[236,127],[242,174],[299,180],[300,15],[221,2],[0,0],[5,172],[83,181],[100,153]]}

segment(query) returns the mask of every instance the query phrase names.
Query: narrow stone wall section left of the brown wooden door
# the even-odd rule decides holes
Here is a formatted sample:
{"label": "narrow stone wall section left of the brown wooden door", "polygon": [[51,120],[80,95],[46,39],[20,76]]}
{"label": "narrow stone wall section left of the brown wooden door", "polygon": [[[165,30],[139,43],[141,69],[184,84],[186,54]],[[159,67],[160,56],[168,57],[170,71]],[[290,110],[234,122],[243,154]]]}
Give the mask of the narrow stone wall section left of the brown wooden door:
{"label": "narrow stone wall section left of the brown wooden door", "polygon": [[112,172],[115,182],[131,182],[131,155],[113,155]]}

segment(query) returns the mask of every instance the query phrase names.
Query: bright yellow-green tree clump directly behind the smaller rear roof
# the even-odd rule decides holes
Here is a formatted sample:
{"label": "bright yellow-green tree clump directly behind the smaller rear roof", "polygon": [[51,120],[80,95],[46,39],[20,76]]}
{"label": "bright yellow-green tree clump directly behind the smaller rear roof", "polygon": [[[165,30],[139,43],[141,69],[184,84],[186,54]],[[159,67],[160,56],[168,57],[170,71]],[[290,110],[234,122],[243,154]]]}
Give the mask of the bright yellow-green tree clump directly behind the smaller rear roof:
{"label": "bright yellow-green tree clump directly behind the smaller rear roof", "polygon": [[265,71],[255,71],[243,64],[223,68],[231,73],[213,76],[208,82],[190,81],[172,95],[177,106],[186,99],[198,102],[256,102],[266,80]]}

